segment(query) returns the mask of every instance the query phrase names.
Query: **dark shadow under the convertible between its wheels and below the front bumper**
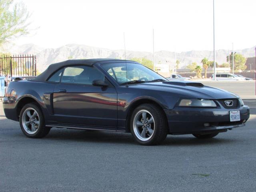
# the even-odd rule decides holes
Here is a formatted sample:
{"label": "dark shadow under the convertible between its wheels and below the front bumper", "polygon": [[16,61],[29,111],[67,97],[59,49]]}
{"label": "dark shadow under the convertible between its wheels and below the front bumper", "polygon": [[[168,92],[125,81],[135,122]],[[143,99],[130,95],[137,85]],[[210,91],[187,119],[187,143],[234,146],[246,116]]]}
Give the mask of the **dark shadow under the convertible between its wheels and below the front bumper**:
{"label": "dark shadow under the convertible between its wheels and below the front bumper", "polygon": [[[95,143],[113,143],[113,144],[130,144],[138,145],[130,133],[106,132],[106,131],[86,131],[86,130],[59,130],[52,129],[46,136],[50,140],[66,140],[70,142],[95,142]],[[172,136],[168,135],[161,146],[196,146],[227,144],[238,142],[238,140],[229,138],[210,138],[197,139],[194,136]]]}

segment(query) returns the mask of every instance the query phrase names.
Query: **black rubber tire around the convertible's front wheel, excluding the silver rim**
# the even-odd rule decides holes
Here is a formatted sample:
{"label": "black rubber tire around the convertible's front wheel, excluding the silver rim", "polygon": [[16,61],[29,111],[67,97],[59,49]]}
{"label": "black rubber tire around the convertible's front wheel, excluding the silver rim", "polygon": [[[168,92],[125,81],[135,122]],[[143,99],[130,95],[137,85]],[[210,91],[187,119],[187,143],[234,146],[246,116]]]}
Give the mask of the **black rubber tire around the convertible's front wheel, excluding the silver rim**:
{"label": "black rubber tire around the convertible's front wheel, excluding the silver rim", "polygon": [[[152,136],[147,141],[142,141],[136,133],[134,132],[134,118],[135,115],[138,114],[141,110],[147,110],[152,114],[154,119],[154,132]],[[151,126],[151,125],[150,125]],[[157,145],[163,142],[167,136],[167,122],[165,118],[165,114],[161,108],[156,106],[155,104],[142,104],[138,106],[133,112],[130,120],[130,131],[134,139],[141,145]],[[136,131],[136,130],[135,130]]]}

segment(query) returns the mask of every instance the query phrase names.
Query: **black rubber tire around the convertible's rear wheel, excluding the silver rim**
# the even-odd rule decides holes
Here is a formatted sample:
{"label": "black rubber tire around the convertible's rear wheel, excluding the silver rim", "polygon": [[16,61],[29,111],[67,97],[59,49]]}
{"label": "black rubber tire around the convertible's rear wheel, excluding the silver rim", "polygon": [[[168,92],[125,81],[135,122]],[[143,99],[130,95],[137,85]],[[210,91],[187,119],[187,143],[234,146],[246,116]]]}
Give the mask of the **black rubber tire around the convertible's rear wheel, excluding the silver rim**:
{"label": "black rubber tire around the convertible's rear wheel, excluding the silver rim", "polygon": [[[34,133],[28,133],[29,131],[25,130],[26,127],[24,127],[23,123],[22,123],[22,118],[23,116],[26,116],[26,114],[24,114],[24,112],[26,113],[26,110],[28,109],[33,109],[37,112],[38,114],[38,120],[39,120],[39,126],[36,128],[36,131]],[[27,117],[26,117],[27,118]],[[22,132],[29,138],[43,138],[44,136],[46,136],[49,132],[50,132],[50,127],[46,127],[45,126],[45,121],[44,121],[44,116],[42,114],[42,111],[40,110],[40,108],[38,107],[38,105],[36,103],[29,103],[26,104],[22,110],[20,111],[20,128],[22,130]],[[31,127],[31,125],[29,125]]]}

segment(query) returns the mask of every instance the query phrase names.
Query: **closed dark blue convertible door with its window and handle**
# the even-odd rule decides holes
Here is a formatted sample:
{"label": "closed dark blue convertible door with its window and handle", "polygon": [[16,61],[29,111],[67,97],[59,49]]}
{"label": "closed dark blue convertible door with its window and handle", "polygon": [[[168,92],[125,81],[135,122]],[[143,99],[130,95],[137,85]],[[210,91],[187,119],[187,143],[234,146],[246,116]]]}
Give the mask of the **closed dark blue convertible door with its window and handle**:
{"label": "closed dark blue convertible door with its window and handle", "polygon": [[[109,86],[93,86],[103,80]],[[53,94],[55,121],[90,127],[116,128],[117,92],[104,74],[92,66],[64,68]]]}

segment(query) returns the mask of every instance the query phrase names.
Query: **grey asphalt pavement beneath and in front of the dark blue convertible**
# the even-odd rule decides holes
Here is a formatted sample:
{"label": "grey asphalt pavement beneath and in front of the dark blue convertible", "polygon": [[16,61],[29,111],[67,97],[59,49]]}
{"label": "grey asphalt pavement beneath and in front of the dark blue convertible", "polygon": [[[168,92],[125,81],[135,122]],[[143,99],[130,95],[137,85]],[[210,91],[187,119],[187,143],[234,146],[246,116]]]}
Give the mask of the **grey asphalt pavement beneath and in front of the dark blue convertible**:
{"label": "grey asphalt pavement beneath and in front of the dark blue convertible", "polygon": [[29,139],[0,110],[0,191],[255,192],[256,100],[245,103],[246,127],[210,140],[168,136],[160,146],[140,146],[131,134],[57,128]]}

